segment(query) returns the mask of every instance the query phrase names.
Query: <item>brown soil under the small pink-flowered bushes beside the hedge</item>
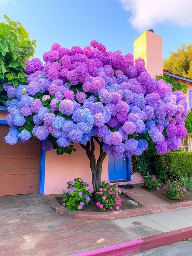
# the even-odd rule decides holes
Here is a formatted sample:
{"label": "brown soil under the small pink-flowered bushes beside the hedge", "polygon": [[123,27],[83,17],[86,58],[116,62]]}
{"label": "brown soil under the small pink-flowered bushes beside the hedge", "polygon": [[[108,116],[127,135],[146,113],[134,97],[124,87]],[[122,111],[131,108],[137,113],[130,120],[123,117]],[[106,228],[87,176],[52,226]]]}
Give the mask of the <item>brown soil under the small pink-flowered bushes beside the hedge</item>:
{"label": "brown soil under the small pink-flowered bushes beside the hedge", "polygon": [[169,203],[169,204],[173,204],[173,203],[180,203],[180,202],[185,202],[185,201],[190,201],[192,200],[192,191],[191,190],[187,190],[187,193],[189,195],[185,196],[185,199],[181,200],[176,200],[176,199],[171,199],[167,196],[167,192],[164,188],[159,188],[159,190],[151,190],[148,189],[147,187],[143,186],[143,189],[145,189],[147,192],[159,197],[160,199],[164,200],[165,202]]}

